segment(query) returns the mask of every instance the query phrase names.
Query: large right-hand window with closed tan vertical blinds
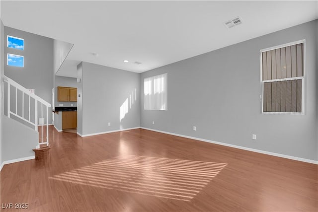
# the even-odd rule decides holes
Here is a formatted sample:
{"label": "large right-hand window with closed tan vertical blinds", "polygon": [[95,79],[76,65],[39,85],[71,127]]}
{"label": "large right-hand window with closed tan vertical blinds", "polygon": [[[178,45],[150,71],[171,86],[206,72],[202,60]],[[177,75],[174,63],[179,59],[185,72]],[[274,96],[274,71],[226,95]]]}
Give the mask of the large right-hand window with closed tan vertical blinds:
{"label": "large right-hand window with closed tan vertical blinds", "polygon": [[303,113],[305,40],[261,50],[263,113]]}

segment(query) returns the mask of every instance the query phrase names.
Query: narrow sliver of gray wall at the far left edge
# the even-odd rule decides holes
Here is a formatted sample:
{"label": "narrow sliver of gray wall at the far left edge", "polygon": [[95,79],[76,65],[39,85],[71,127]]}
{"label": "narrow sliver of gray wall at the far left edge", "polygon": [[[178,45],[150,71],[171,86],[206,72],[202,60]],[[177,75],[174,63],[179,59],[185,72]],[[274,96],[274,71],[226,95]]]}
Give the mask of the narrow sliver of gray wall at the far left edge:
{"label": "narrow sliver of gray wall at the far left edge", "polygon": [[[4,74],[4,26],[2,23],[2,20],[0,20],[0,94],[3,92],[2,91],[2,80],[3,80],[3,74]],[[3,143],[3,96],[1,95],[0,97],[0,166],[3,162],[2,159],[2,143]]]}

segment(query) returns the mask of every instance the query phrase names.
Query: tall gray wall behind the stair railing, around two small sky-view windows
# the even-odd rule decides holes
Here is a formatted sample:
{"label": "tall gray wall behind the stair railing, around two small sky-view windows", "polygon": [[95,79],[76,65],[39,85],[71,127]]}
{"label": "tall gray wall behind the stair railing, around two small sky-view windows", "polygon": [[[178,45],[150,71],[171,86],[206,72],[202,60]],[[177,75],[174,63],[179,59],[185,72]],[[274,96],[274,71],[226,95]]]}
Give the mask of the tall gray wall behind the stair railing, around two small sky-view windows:
{"label": "tall gray wall behind the stair railing, around two small sky-view windows", "polygon": [[[53,39],[21,30],[4,27],[4,38],[11,35],[24,39],[24,50],[4,47],[4,64],[6,54],[24,56],[24,67],[4,66],[4,74],[26,88],[35,89],[35,94],[52,104],[53,88]],[[49,109],[51,110],[51,108]],[[52,114],[49,113],[49,123]]]}

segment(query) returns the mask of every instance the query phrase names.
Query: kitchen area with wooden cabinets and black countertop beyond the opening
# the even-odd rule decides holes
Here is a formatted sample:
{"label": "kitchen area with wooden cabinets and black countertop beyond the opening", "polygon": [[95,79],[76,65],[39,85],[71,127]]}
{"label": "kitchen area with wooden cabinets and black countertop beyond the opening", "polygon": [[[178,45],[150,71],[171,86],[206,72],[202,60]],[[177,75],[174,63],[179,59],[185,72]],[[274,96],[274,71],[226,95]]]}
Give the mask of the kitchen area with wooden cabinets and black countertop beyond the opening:
{"label": "kitchen area with wooden cabinets and black countertop beyond the opening", "polygon": [[58,132],[62,132],[62,131],[76,132],[76,129],[77,129],[76,78],[56,76],[56,84],[70,85],[72,87],[56,86],[52,89],[53,125]]}

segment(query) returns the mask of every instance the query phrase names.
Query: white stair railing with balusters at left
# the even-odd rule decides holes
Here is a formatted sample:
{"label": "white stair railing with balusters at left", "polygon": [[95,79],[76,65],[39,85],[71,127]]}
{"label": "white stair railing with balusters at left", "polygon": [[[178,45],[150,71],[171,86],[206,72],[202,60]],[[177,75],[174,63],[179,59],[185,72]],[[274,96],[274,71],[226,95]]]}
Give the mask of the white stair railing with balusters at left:
{"label": "white stair railing with balusters at left", "polygon": [[[49,108],[51,107],[51,104],[45,101],[44,99],[40,98],[39,96],[35,95],[34,93],[31,93],[29,89],[23,87],[22,85],[8,78],[7,76],[4,76],[4,82],[6,82],[5,88],[7,90],[7,99],[6,99],[7,100],[7,117],[10,118],[11,116],[14,116],[22,120],[23,122],[33,126],[34,130],[39,132],[39,144],[36,146],[36,148],[40,148],[41,144],[46,144],[46,146],[48,146],[49,145],[48,121],[49,121]],[[22,94],[22,95],[18,97],[18,94]],[[26,96],[26,99],[24,98],[24,96]],[[33,105],[33,102],[34,102],[34,105]],[[41,107],[41,111],[38,111],[39,105]],[[43,117],[43,113],[44,113],[43,106],[46,113],[46,119],[45,117]],[[26,114],[26,112],[28,113]],[[34,117],[31,116],[31,113],[34,113]],[[38,126],[39,118],[41,118],[40,119],[41,123],[39,123],[40,127]],[[45,132],[43,131],[44,125],[46,127],[45,137],[43,135],[43,132]]]}

